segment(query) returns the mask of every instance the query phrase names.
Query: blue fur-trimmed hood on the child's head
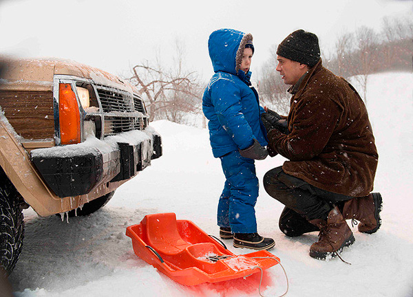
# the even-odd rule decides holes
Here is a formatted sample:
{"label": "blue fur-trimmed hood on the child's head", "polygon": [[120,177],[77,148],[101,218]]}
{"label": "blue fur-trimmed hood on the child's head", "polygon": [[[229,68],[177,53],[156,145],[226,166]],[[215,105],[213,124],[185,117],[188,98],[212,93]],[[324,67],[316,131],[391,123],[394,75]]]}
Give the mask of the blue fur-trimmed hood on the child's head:
{"label": "blue fur-trimmed hood on the child's head", "polygon": [[220,29],[212,32],[209,36],[208,49],[213,71],[237,75],[248,41],[253,41],[253,36],[249,33],[245,34],[232,29]]}

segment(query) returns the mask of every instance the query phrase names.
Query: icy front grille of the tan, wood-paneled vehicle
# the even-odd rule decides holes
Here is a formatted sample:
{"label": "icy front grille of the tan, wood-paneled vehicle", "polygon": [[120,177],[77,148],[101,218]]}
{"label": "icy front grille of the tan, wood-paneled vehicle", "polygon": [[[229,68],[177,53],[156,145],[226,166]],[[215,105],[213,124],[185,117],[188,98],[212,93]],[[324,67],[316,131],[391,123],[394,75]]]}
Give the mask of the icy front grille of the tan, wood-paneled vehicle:
{"label": "icy front grille of the tan, wood-paneled vehicle", "polygon": [[105,118],[105,137],[146,128],[148,119],[142,99],[120,89],[101,85],[96,89]]}

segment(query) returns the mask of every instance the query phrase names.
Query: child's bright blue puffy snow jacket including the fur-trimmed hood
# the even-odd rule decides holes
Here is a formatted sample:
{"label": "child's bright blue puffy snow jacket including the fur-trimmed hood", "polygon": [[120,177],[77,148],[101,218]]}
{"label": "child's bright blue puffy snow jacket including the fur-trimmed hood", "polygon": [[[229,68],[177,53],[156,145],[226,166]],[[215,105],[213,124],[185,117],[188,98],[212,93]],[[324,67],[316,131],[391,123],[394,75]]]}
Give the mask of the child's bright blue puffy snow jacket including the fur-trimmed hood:
{"label": "child's bright blue puffy snow jacket including the fur-trimmed hood", "polygon": [[266,130],[261,121],[257,91],[251,87],[251,72],[239,70],[246,41],[251,34],[221,29],[209,36],[208,48],[215,74],[202,96],[202,110],[209,120],[209,140],[214,157],[238,151],[256,139],[267,145]]}

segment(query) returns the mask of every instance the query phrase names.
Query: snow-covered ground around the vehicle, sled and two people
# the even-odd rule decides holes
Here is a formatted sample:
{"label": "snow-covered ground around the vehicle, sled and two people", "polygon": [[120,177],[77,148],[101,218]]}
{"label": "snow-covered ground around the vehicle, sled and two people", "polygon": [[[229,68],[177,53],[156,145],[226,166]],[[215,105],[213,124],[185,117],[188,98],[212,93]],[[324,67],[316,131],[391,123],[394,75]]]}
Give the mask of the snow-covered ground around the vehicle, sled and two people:
{"label": "snow-covered ground around the vehicle, sled and two people", "polygon": [[[372,235],[352,228],[356,242],[341,254],[351,265],[310,258],[317,232],[294,239],[282,234],[283,206],[260,188],[258,229],[275,239],[271,252],[288,275],[288,296],[413,296],[413,74],[370,76],[368,111],[380,155],[374,191],[383,195],[383,224]],[[9,278],[15,296],[258,296],[256,275],[187,287],[135,256],[125,229],[146,214],[175,212],[218,236],[224,177],[207,130],[167,121],[151,125],[162,135],[163,157],[121,186],[105,208],[68,223],[25,210],[25,245]],[[280,156],[256,162],[259,179],[283,162]],[[251,252],[226,243],[235,254]],[[282,268],[266,270],[262,294],[285,291]]]}

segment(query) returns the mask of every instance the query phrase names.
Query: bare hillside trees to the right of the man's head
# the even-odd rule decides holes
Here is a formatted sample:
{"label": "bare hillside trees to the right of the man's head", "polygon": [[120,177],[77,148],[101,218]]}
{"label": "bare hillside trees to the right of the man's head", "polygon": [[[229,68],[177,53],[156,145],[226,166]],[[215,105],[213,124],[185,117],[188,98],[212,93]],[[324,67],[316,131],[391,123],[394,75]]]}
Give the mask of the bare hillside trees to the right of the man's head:
{"label": "bare hillside trees to the right of the man's head", "polygon": [[366,100],[367,80],[380,71],[412,70],[412,19],[383,19],[380,34],[366,27],[355,33],[346,33],[337,39],[335,57],[328,68],[339,76],[354,76],[361,85]]}

